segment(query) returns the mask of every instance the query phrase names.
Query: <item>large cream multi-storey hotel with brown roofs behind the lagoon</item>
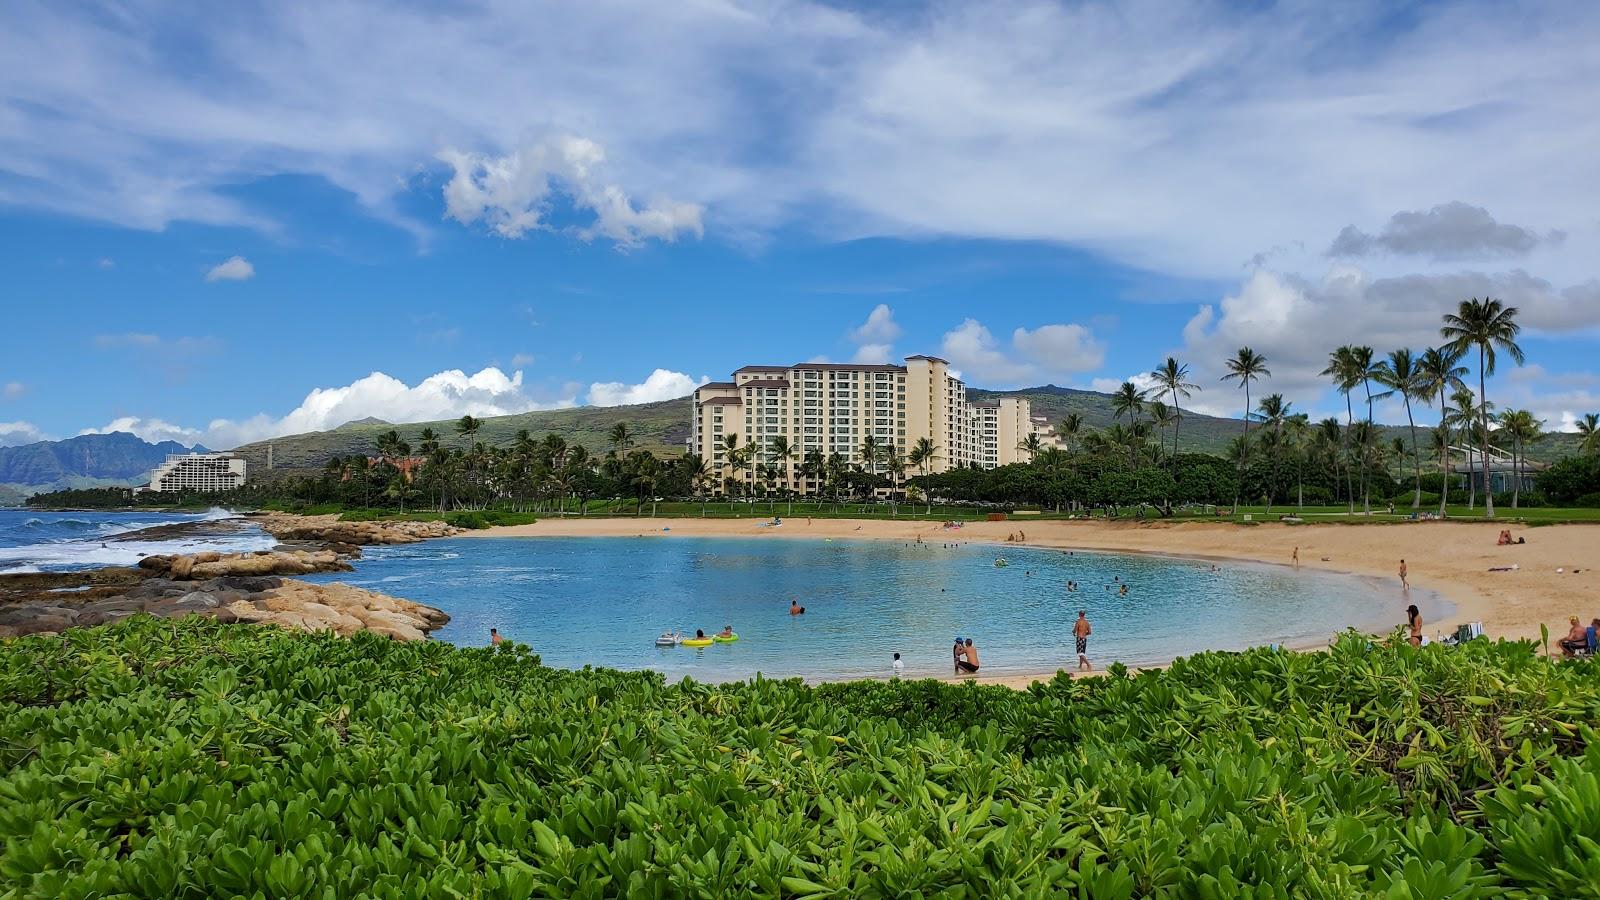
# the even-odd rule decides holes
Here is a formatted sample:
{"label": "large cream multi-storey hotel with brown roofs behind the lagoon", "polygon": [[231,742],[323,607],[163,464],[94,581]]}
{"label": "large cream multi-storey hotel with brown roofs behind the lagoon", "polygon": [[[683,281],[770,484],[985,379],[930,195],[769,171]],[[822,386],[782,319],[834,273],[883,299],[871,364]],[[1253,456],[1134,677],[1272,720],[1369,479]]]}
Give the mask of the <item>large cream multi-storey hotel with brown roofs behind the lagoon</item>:
{"label": "large cream multi-storey hotel with brown roofs behind the lagoon", "polygon": [[800,472],[806,455],[837,453],[856,463],[869,436],[878,445],[893,445],[901,458],[918,439],[930,439],[936,448],[930,472],[1027,461],[1027,452],[1018,447],[1030,434],[1045,447],[1056,444],[1027,400],[971,402],[966,384],[950,375],[950,364],[931,356],[907,357],[906,365],[746,365],[733,381],[701,386],[691,402],[691,453],[720,472],[728,464],[728,434],[738,434],[736,447],[762,448],[782,437],[794,458],[782,466],[779,484],[800,492],[819,487]]}

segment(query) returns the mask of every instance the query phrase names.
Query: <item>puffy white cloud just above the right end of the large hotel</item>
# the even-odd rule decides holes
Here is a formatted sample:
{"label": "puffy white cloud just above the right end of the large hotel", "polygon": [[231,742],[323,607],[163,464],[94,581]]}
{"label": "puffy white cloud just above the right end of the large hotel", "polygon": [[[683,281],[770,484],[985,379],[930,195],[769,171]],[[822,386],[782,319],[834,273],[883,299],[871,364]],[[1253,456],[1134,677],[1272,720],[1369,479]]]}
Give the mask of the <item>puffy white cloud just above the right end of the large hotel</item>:
{"label": "puffy white cloud just above the right end of the large hotel", "polygon": [[976,319],[946,331],[939,344],[950,365],[982,386],[1014,386],[1072,372],[1098,368],[1106,348],[1083,325],[1056,323],[1011,331],[1011,346],[1000,341]]}

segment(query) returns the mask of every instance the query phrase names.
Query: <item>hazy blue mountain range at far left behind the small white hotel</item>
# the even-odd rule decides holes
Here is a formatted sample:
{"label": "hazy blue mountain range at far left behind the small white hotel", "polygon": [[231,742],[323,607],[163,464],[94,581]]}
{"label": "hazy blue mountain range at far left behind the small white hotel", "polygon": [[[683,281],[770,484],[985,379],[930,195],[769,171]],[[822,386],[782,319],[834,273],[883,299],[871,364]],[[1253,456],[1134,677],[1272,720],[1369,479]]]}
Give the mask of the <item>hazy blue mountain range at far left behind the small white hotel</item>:
{"label": "hazy blue mountain range at far left behind the small white hotel", "polygon": [[144,484],[168,453],[210,453],[176,440],[150,444],[126,431],[0,447],[0,503],[66,487]]}

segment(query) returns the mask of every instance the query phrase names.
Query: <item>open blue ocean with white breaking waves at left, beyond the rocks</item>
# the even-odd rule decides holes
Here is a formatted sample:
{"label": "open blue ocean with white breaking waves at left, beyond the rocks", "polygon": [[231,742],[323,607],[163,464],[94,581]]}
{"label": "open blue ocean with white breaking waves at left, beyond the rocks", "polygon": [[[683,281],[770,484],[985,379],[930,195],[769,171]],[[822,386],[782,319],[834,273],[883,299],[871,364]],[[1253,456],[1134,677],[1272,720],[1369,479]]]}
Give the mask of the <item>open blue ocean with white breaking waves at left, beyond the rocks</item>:
{"label": "open blue ocean with white breaking waves at left, beyond the rocks", "polygon": [[238,552],[270,548],[274,541],[258,528],[237,535],[190,536],[182,540],[118,540],[118,535],[173,525],[230,519],[234,512],[40,512],[0,509],[0,573],[66,572],[99,565],[134,565],[149,554],[198,552],[216,549]]}

